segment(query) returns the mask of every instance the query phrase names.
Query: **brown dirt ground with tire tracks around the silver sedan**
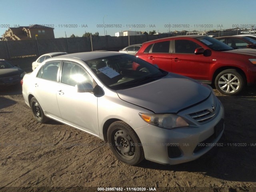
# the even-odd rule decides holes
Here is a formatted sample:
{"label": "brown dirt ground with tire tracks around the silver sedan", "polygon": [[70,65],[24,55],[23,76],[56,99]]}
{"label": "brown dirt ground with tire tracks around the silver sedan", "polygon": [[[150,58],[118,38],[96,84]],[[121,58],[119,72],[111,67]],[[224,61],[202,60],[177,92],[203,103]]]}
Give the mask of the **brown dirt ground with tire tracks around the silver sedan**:
{"label": "brown dirt ground with tire tracks around the silver sedan", "polygon": [[247,88],[239,96],[215,92],[225,108],[222,147],[184,164],[144,160],[129,166],[90,134],[53,120],[37,123],[24,103],[21,86],[0,88],[0,191],[24,191],[22,187],[256,191],[256,88]]}

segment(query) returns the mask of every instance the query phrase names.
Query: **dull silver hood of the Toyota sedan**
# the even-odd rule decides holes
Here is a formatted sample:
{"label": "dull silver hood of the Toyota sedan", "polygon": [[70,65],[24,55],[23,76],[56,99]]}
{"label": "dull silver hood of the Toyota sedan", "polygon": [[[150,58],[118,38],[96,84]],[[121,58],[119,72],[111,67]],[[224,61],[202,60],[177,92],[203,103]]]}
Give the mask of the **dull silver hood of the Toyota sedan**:
{"label": "dull silver hood of the Toyota sedan", "polygon": [[205,100],[211,92],[200,82],[171,73],[154,82],[117,90],[120,99],[155,113],[177,113]]}

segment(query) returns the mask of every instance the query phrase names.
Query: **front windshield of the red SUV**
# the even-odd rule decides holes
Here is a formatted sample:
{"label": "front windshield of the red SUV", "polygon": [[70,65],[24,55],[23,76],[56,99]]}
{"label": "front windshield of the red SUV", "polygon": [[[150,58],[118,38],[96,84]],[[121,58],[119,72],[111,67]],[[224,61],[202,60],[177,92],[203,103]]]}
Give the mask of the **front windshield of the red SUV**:
{"label": "front windshield of the red SUV", "polygon": [[214,51],[229,51],[229,50],[234,49],[234,48],[228,46],[227,44],[220,42],[219,40],[214,39],[212,37],[202,36],[202,37],[198,37],[196,39]]}

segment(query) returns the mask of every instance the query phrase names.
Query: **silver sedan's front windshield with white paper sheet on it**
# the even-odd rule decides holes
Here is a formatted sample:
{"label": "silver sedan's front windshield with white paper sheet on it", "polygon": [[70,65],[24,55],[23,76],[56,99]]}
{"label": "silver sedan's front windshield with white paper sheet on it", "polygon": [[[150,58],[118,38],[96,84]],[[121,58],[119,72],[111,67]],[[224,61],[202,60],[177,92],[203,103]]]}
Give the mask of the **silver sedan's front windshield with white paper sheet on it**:
{"label": "silver sedan's front windshield with white paper sheet on it", "polygon": [[125,89],[166,76],[152,64],[129,54],[85,61],[96,76],[113,90]]}

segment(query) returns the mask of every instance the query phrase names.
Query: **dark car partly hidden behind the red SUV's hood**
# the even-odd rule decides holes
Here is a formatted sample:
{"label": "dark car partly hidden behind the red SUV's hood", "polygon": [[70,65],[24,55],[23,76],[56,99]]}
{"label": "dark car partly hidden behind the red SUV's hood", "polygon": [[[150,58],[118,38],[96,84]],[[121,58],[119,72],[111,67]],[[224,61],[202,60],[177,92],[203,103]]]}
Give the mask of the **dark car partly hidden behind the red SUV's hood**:
{"label": "dark car partly hidden behind the red SUV's hood", "polygon": [[234,49],[253,48],[256,49],[256,40],[246,36],[223,36],[216,37],[217,40],[231,46]]}

